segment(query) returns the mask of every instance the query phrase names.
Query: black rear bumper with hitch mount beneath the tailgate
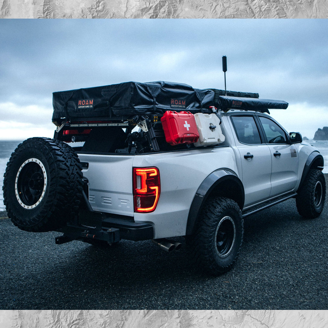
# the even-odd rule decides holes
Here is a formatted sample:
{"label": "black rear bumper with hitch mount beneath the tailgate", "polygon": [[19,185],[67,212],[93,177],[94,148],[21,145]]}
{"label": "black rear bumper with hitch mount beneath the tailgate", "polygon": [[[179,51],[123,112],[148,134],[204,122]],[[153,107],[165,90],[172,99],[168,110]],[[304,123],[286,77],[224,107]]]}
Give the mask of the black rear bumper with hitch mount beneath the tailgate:
{"label": "black rear bumper with hitch mount beneath the tailgate", "polygon": [[76,222],[68,224],[58,232],[64,235],[56,238],[56,244],[86,238],[108,243],[120,239],[133,241],[154,239],[154,229],[149,223],[134,222],[132,216],[89,211],[80,212]]}

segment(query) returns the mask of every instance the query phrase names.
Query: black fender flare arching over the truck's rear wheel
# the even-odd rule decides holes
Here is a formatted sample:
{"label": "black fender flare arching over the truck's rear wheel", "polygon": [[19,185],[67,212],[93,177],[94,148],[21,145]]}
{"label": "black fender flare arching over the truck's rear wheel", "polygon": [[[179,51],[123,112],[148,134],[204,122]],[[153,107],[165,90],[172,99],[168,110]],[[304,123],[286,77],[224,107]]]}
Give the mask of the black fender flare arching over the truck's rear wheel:
{"label": "black fender flare arching over the truck's rear wheel", "polygon": [[[230,181],[230,186],[236,186],[239,194],[236,194],[234,196],[234,200],[237,202],[240,209],[243,208],[245,201],[245,191],[244,186],[237,174],[229,169],[216,170],[203,180],[194,196],[194,199],[189,209],[186,235],[191,235],[193,233],[198,214],[201,211],[203,205],[205,204],[208,196],[211,195],[213,191],[215,191],[215,188],[217,186],[219,186],[222,182],[225,181]],[[227,195],[222,194],[221,196]]]}

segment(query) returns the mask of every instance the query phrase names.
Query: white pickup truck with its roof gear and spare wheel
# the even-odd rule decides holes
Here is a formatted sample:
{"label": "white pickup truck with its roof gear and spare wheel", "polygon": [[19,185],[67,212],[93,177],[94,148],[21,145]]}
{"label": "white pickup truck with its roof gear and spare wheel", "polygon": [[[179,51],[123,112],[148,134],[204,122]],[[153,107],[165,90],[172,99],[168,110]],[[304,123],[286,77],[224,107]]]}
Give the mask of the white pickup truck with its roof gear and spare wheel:
{"label": "white pickup truck with its roof gear and spare wheel", "polygon": [[57,244],[152,239],[168,252],[181,247],[168,238],[186,236],[196,263],[217,275],[235,262],[244,217],[289,198],[303,217],[320,215],[323,157],[265,113],[287,103],[129,83],[53,94],[54,138],[18,145],[4,175],[18,228],[62,232]]}

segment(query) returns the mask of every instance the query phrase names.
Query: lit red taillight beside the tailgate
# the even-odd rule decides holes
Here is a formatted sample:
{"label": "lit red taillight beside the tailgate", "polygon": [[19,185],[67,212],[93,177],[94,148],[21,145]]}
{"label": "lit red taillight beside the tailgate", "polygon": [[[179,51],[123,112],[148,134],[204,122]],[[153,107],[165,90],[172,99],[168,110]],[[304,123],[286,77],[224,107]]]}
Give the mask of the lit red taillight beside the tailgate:
{"label": "lit red taillight beside the tailgate", "polygon": [[156,167],[133,168],[134,212],[153,212],[160,194],[159,170]]}

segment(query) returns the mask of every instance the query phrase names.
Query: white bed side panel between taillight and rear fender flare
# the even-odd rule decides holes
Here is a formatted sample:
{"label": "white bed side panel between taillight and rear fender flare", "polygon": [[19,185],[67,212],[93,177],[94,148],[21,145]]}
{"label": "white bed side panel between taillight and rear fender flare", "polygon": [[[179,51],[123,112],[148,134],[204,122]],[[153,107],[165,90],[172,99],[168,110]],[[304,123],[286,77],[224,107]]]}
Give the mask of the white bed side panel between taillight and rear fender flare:
{"label": "white bed side panel between taillight and rear fender flare", "polygon": [[202,181],[219,168],[236,172],[230,147],[193,149],[163,154],[136,155],[133,167],[159,169],[161,193],[152,213],[134,213],[136,222],[151,223],[154,238],[184,236],[191,203]]}

